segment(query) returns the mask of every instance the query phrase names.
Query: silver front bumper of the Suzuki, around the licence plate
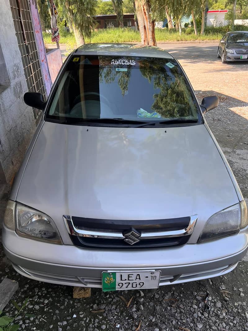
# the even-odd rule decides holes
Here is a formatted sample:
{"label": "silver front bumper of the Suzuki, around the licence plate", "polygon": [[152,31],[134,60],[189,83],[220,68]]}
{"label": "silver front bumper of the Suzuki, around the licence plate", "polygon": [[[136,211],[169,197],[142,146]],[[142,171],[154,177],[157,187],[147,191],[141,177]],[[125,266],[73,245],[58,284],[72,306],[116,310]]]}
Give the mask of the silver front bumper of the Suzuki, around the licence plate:
{"label": "silver front bumper of the Suzuki, around the licence plate", "polygon": [[248,246],[247,228],[200,244],[156,250],[103,251],[21,238],[3,228],[3,245],[14,268],[38,281],[101,287],[102,271],[161,270],[159,285],[211,278],[233,270]]}

